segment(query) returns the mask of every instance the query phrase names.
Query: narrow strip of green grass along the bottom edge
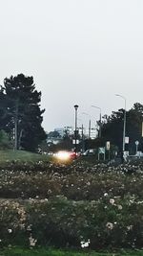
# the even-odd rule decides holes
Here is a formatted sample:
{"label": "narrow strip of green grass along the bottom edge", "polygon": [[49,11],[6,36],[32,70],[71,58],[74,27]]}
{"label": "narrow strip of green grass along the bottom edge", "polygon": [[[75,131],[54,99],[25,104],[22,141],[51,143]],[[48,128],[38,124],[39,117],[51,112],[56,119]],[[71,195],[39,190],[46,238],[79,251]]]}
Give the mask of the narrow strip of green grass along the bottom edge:
{"label": "narrow strip of green grass along the bottom edge", "polygon": [[143,256],[143,251],[119,251],[119,252],[75,252],[51,248],[6,248],[0,250],[0,256]]}

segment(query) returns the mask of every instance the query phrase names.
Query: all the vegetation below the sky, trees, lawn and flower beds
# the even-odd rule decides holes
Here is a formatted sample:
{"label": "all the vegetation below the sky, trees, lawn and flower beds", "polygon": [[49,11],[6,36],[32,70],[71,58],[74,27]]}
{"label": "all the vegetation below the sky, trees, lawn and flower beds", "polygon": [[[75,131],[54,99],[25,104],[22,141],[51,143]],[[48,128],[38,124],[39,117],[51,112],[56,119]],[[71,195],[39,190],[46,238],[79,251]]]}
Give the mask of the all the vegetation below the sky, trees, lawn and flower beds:
{"label": "all the vegetation below the sky, trees, lawn and flower beds", "polygon": [[[143,162],[109,163],[122,155],[125,110],[104,115],[93,140],[69,129],[47,137],[32,77],[6,78],[0,100],[0,256],[143,255]],[[141,155],[143,105],[134,104],[126,117],[125,150]],[[94,150],[94,157],[65,164],[35,153],[72,151],[75,136],[76,150]],[[59,143],[48,145],[47,138]],[[102,154],[99,162],[107,141],[107,162]]]}

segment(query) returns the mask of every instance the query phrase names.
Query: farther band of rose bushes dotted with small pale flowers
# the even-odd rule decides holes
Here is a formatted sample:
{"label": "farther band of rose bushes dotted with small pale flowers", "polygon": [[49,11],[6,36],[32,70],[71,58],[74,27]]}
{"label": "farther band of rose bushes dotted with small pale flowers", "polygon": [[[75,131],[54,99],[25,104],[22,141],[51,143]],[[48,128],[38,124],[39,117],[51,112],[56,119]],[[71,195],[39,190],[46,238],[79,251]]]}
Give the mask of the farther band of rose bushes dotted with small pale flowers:
{"label": "farther band of rose bushes dotted with small pale flowers", "polygon": [[83,163],[66,166],[38,162],[20,166],[14,163],[0,171],[0,197],[51,198],[64,195],[74,200],[93,200],[107,193],[111,198],[124,198],[129,194],[141,199],[142,170],[143,165],[85,167]]}

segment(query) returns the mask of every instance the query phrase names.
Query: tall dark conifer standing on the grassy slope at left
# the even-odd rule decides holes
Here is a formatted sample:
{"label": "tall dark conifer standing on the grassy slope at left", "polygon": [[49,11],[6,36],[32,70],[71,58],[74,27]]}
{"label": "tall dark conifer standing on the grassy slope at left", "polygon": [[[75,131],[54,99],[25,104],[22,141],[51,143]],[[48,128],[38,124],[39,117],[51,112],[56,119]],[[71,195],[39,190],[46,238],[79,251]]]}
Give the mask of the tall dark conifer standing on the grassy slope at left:
{"label": "tall dark conifer standing on the grassy slope at left", "polygon": [[0,96],[7,123],[4,129],[14,130],[15,149],[34,151],[46,133],[41,126],[45,111],[40,109],[41,92],[35,89],[33,78],[23,74],[6,78]]}

